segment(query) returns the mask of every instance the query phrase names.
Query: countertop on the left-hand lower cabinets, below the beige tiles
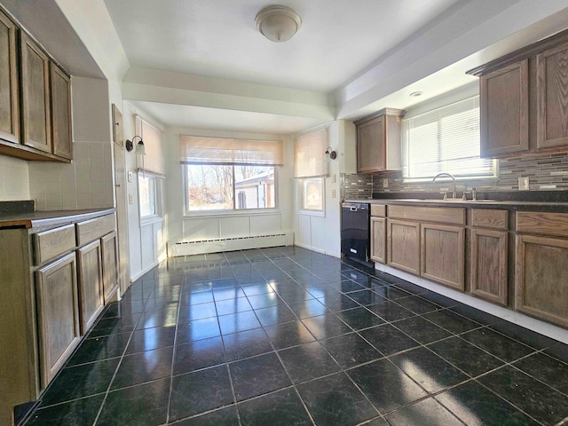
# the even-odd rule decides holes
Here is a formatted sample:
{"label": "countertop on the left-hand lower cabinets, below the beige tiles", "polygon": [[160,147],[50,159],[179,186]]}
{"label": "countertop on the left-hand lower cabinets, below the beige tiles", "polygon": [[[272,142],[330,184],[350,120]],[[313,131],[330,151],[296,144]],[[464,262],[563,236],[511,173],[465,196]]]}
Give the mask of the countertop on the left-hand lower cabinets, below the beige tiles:
{"label": "countertop on the left-hand lower cabinets, below the beige tiles", "polygon": [[109,209],[40,210],[28,213],[0,215],[1,228],[45,228],[74,224],[83,220],[105,216],[116,211]]}

